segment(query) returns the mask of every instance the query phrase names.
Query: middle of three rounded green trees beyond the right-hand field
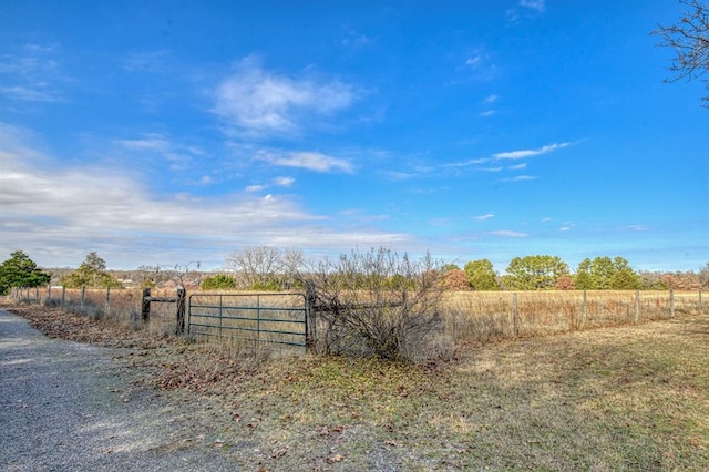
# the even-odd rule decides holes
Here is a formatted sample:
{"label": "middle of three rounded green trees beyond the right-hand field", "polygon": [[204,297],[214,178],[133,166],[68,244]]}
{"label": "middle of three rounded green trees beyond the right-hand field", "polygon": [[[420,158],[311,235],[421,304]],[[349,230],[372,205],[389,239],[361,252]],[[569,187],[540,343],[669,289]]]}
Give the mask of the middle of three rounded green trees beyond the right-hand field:
{"label": "middle of three rounded green trees beyond the right-hand field", "polygon": [[515,257],[507,266],[503,284],[512,290],[554,288],[561,276],[568,275],[568,265],[556,256]]}

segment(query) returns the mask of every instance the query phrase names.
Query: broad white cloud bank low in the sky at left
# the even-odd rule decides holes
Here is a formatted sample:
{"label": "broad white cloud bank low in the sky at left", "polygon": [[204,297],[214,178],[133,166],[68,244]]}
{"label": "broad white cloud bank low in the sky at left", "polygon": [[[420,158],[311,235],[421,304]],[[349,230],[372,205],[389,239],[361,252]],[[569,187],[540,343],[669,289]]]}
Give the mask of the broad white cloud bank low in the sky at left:
{"label": "broad white cloud bank low in the sky at left", "polygon": [[243,246],[340,252],[410,240],[402,233],[338,226],[273,194],[158,196],[115,167],[59,167],[27,144],[34,137],[0,124],[0,259],[22,249],[39,264],[76,266],[99,250],[110,267],[197,259],[218,266]]}

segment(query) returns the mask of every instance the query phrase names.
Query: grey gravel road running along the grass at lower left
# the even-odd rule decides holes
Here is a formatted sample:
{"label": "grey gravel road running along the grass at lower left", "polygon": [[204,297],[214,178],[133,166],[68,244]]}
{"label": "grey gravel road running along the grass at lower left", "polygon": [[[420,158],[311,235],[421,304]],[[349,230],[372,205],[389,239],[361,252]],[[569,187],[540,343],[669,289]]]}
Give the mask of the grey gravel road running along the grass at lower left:
{"label": "grey gravel road running along the grass at lower left", "polygon": [[50,339],[0,310],[0,469],[238,470],[189,408],[135,387],[117,352]]}

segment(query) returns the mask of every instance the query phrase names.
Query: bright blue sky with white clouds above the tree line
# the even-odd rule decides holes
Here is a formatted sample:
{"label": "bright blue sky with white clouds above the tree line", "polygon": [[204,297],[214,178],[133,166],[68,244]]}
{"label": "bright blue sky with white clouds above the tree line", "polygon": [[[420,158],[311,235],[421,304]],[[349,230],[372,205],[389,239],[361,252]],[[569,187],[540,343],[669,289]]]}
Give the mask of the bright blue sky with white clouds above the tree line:
{"label": "bright blue sky with white clouds above the tree line", "polygon": [[649,34],[676,1],[1,10],[1,260],[709,261],[707,91]]}

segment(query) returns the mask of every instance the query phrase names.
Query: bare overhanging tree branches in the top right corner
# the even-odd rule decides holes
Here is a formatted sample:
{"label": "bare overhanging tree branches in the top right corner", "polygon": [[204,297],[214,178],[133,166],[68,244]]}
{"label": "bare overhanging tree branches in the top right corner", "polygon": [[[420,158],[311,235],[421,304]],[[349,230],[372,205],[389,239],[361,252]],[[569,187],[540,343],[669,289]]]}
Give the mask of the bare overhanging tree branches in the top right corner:
{"label": "bare overhanging tree branches in the top right corner", "polygon": [[[669,70],[675,74],[668,82],[680,79],[699,79],[709,90],[709,7],[700,0],[680,0],[691,11],[685,13],[676,24],[662,27],[651,32],[659,35],[659,45],[675,50],[677,54]],[[709,106],[709,95],[702,99]]]}

